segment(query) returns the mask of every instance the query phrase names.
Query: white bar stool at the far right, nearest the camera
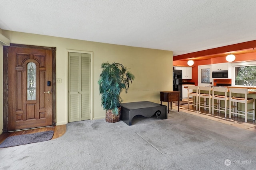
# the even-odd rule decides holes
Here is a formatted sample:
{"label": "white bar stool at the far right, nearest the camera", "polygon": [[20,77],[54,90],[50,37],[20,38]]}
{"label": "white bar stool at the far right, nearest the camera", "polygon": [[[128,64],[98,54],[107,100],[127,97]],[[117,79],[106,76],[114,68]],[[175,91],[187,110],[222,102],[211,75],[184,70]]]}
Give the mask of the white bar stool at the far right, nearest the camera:
{"label": "white bar stool at the far right, nearest the camera", "polygon": [[[239,96],[241,96],[242,94],[244,97],[233,97],[234,93],[236,93],[236,95],[240,94]],[[230,97],[230,100],[229,100],[229,118],[231,118],[232,113],[235,114],[236,116],[243,115],[245,117],[245,122],[247,122],[247,114],[251,114],[253,115],[253,120],[255,120],[255,99],[248,98],[247,97],[248,93],[249,93],[249,90],[247,88],[230,88],[229,89],[229,95],[232,96]],[[234,102],[235,111],[231,111],[231,102]],[[237,105],[238,103],[245,104],[244,111],[238,110],[238,105]],[[253,109],[248,109],[248,106],[247,106],[248,103],[253,103],[252,104]],[[252,112],[248,112],[248,111],[252,111]]]}

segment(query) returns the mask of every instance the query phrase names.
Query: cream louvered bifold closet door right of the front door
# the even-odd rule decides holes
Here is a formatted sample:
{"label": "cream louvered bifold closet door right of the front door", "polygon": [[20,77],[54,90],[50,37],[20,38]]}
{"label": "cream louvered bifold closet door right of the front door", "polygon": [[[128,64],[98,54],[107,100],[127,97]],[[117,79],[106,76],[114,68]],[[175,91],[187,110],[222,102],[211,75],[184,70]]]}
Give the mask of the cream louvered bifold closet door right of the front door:
{"label": "cream louvered bifold closet door right of the front door", "polygon": [[90,54],[69,53],[69,122],[90,119]]}

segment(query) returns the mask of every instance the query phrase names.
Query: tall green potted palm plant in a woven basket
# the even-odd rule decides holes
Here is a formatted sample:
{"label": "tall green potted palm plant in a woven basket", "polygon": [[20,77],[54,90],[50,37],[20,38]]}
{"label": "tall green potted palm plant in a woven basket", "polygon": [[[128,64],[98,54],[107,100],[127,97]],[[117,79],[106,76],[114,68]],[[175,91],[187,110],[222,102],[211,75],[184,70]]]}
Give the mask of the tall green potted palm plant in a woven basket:
{"label": "tall green potted palm plant in a woven basket", "polygon": [[106,121],[110,123],[120,121],[120,103],[122,90],[129,89],[134,75],[128,68],[119,63],[102,63],[102,72],[98,84],[100,85],[101,105],[106,110]]}

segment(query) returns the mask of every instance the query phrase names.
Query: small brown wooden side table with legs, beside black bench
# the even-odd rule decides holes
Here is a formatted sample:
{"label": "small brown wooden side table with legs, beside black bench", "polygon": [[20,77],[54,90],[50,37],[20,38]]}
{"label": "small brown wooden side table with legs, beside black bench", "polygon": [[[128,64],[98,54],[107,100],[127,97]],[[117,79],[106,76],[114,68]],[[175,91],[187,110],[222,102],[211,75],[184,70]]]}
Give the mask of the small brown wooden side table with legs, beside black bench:
{"label": "small brown wooden side table with legs, beside black bench", "polygon": [[169,113],[169,102],[171,102],[171,109],[172,109],[172,102],[178,101],[178,111],[180,111],[180,92],[179,91],[162,91],[160,92],[160,101],[168,102],[168,113]]}

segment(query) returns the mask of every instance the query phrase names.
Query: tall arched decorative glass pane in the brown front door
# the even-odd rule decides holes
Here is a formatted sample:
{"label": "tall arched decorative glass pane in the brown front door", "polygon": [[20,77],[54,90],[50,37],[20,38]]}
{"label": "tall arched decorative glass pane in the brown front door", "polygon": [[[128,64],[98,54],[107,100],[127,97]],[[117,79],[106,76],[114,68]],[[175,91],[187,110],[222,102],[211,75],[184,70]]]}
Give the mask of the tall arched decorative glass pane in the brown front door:
{"label": "tall arched decorative glass pane in the brown front door", "polygon": [[27,65],[27,100],[36,100],[36,64]]}

